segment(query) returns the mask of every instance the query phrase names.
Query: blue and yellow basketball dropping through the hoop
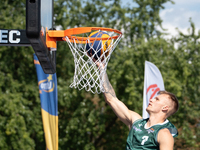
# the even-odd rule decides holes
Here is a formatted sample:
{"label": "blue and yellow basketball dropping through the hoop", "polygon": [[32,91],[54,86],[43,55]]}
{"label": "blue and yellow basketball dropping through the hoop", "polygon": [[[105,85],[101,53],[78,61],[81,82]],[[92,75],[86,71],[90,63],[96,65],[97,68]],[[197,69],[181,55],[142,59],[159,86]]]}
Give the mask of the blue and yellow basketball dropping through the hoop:
{"label": "blue and yellow basketball dropping through the hoop", "polygon": [[109,46],[111,44],[111,39],[109,40],[109,34],[104,31],[95,31],[89,35],[89,38],[106,38],[104,40],[90,41],[86,44],[86,50],[89,55],[92,54],[95,59],[100,58],[100,56],[105,52],[105,56],[109,54]]}

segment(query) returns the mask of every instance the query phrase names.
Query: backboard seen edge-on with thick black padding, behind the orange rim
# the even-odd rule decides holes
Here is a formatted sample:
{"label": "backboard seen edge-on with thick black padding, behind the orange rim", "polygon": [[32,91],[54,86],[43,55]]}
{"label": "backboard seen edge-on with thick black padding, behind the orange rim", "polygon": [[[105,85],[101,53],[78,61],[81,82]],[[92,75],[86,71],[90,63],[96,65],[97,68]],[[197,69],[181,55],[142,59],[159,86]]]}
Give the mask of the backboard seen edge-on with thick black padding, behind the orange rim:
{"label": "backboard seen edge-on with thick black padding, behind the orange rim", "polygon": [[53,28],[53,0],[26,0],[26,35],[46,74],[56,72],[55,51],[46,46],[46,31]]}

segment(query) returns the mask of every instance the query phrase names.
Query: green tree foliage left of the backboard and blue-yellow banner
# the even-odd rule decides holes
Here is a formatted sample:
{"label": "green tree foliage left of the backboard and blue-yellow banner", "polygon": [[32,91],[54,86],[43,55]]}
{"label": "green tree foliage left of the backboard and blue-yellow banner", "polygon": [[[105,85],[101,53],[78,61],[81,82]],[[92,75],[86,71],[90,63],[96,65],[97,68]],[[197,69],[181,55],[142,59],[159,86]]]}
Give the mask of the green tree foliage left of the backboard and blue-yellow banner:
{"label": "green tree foliage left of the backboard and blue-yellow banner", "polygon": [[[1,29],[25,29],[25,1],[5,0],[0,8]],[[33,50],[0,47],[0,60],[0,149],[44,149]]]}

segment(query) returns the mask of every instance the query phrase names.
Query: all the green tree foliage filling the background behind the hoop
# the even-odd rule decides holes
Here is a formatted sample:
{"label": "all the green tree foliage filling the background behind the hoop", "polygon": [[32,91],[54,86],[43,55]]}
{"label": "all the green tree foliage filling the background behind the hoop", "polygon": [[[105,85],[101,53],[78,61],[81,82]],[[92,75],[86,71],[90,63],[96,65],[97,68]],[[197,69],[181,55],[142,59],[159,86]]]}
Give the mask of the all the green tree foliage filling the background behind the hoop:
{"label": "all the green tree foliage filling the background behind the hoop", "polygon": [[[55,0],[55,26],[104,26],[123,30],[124,37],[108,64],[118,98],[142,113],[145,60],[161,71],[166,90],[177,95],[180,108],[170,117],[179,130],[175,149],[200,147],[200,32],[190,21],[188,35],[162,38],[159,11],[171,0]],[[25,29],[25,0],[0,5],[1,29]],[[125,30],[124,30],[125,29]],[[175,46],[177,48],[175,48]],[[57,77],[59,149],[123,149],[128,128],[114,115],[103,95],[69,88],[74,61],[68,45],[58,42]],[[45,139],[37,76],[30,47],[0,47],[0,149],[44,150]]]}

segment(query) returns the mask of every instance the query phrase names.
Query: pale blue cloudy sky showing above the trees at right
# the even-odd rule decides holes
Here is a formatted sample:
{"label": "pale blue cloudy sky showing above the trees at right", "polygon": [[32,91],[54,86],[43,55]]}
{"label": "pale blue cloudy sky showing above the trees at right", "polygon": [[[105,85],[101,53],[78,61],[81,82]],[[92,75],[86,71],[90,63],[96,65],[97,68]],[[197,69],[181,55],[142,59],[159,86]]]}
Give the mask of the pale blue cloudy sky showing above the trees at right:
{"label": "pale blue cloudy sky showing above the trees at right", "polygon": [[[122,0],[123,3],[131,3],[131,0]],[[188,34],[188,28],[190,27],[189,19],[191,18],[196,27],[196,33],[200,30],[200,0],[173,0],[175,4],[171,2],[165,3],[165,9],[160,12],[160,17],[163,20],[163,28],[167,29],[170,33],[166,38],[175,36],[178,34],[176,28],[178,28],[184,34]],[[160,29],[160,28],[158,28]]]}

